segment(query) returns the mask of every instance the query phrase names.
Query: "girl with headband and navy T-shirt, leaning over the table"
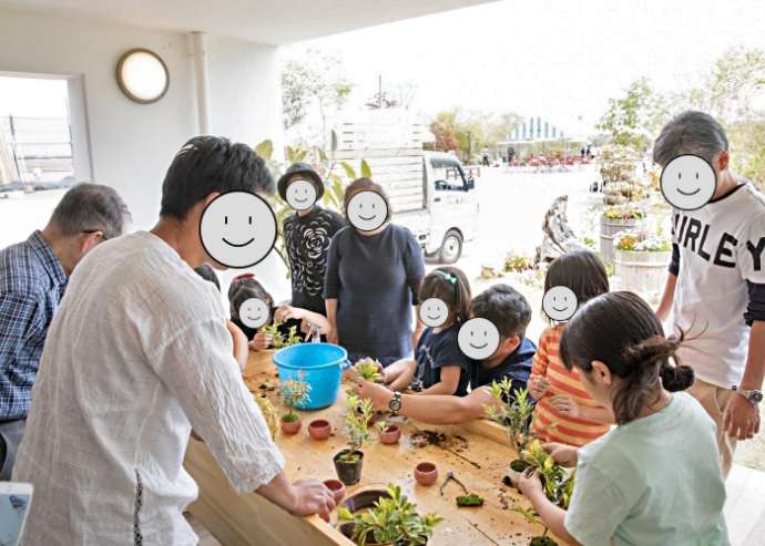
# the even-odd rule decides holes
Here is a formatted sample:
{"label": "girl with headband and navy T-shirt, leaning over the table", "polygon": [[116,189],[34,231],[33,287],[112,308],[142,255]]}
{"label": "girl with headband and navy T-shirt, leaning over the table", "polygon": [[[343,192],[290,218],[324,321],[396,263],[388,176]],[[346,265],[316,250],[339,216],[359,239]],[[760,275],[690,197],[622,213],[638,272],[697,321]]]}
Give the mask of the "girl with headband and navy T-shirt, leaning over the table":
{"label": "girl with headband and navy T-shirt, leaning over the table", "polygon": [[[390,389],[401,391],[409,388],[420,394],[457,396],[468,393],[470,361],[460,351],[457,334],[470,312],[470,282],[461,269],[439,267],[422,279],[418,313],[439,316],[447,310],[448,315],[440,317],[445,319],[442,324],[427,327],[422,331],[414,359],[399,360],[382,370],[382,379],[390,383]],[[435,300],[446,307],[439,309]],[[435,309],[424,309],[422,306]]]}

